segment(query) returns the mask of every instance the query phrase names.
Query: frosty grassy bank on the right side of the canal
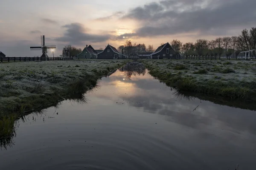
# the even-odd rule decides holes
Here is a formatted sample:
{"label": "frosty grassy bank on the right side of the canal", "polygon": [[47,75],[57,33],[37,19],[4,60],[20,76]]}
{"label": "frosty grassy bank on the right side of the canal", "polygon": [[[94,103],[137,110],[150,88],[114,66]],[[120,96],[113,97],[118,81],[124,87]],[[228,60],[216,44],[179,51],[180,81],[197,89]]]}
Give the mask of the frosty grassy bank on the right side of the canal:
{"label": "frosty grassy bank on the right side of the canal", "polygon": [[179,91],[256,100],[256,62],[143,60],[150,74]]}

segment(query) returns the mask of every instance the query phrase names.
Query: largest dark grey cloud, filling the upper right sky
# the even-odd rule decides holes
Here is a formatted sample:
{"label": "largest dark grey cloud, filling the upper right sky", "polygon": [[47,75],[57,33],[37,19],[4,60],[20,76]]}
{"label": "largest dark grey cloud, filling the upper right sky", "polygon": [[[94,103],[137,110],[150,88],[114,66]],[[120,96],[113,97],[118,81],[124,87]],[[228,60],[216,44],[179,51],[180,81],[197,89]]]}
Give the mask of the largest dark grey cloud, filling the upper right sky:
{"label": "largest dark grey cloud, filling the upper right sky", "polygon": [[[197,32],[222,35],[233,28],[256,24],[255,0],[165,0],[131,9],[120,19],[137,20],[141,27],[123,37],[149,37]],[[246,12],[244,12],[246,11]]]}

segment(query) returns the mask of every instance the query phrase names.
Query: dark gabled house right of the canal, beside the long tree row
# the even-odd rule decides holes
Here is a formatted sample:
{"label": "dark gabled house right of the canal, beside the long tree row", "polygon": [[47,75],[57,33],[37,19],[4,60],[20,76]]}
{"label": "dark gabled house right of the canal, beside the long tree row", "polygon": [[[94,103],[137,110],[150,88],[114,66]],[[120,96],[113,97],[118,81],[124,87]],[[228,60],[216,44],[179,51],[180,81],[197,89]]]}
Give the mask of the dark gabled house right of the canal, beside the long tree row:
{"label": "dark gabled house right of the canal, beside the long tree row", "polygon": [[167,42],[157,48],[154,53],[150,54],[151,59],[178,59],[179,55],[174,51],[172,46]]}

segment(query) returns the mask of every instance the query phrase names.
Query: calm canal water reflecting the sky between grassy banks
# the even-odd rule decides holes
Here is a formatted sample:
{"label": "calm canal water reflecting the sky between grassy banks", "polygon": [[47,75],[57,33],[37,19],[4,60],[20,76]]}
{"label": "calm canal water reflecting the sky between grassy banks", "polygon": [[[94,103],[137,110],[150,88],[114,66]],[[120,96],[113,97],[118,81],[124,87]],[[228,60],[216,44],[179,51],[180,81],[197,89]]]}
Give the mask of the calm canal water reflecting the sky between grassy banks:
{"label": "calm canal water reflecting the sky between grassy banks", "polygon": [[255,111],[180,98],[135,65],[102,78],[87,103],[20,120],[0,170],[256,169]]}

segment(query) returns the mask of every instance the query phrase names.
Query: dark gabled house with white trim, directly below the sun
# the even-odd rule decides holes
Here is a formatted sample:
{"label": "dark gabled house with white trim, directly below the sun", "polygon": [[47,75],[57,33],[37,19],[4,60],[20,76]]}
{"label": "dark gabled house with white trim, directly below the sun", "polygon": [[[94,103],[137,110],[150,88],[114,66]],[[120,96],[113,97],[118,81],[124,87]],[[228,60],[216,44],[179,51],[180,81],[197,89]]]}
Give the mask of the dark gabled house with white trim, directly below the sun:
{"label": "dark gabled house with white trim, directly below the sun", "polygon": [[119,53],[116,48],[108,44],[102,52],[98,53],[97,59],[120,59],[124,57],[126,57],[124,54]]}

